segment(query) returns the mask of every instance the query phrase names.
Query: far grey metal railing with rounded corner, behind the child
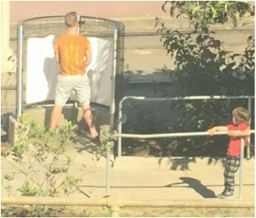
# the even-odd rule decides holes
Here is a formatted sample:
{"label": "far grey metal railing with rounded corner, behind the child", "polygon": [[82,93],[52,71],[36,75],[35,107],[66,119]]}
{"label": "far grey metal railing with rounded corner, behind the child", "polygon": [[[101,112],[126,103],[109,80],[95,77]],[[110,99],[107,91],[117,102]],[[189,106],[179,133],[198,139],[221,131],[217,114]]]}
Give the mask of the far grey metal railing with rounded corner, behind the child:
{"label": "far grey metal railing with rounded corner, behind the child", "polygon": [[[246,98],[248,98],[248,111],[251,114],[252,98],[254,98],[254,96],[187,96],[187,97],[170,97],[170,98],[148,98],[148,97],[144,97],[144,96],[125,96],[119,101],[119,105],[118,105],[118,133],[123,134],[122,133],[123,102],[126,101],[126,100],[177,101],[177,100],[220,100],[220,99],[246,99]],[[177,134],[181,134],[181,136],[182,136],[182,134],[188,134],[187,136],[194,136],[192,133],[177,133]],[[203,132],[202,132],[202,134],[203,134]],[[124,134],[124,135],[127,136],[127,134]],[[135,136],[135,134],[128,134],[128,135]],[[159,135],[159,138],[163,137],[163,134],[158,134],[158,135]],[[138,136],[138,135],[136,135],[136,136]],[[200,135],[200,136],[203,136],[203,135]],[[171,134],[167,134],[165,137],[179,137],[179,136],[174,136],[174,135],[171,135]],[[247,152],[246,152],[248,159],[250,157],[250,143],[251,143],[251,139],[250,139],[250,137],[248,137]],[[118,136],[117,156],[118,157],[122,156],[122,137],[121,136]]]}

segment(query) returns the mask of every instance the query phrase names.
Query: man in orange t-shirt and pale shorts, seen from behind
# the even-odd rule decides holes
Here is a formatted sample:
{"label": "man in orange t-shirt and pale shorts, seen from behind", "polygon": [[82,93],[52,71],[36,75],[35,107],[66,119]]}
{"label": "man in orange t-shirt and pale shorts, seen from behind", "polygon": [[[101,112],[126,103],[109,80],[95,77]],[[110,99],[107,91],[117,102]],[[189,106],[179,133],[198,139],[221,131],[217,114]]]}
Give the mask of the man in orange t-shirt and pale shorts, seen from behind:
{"label": "man in orange t-shirt and pale shorts, seen from behind", "polygon": [[86,67],[91,63],[90,42],[86,37],[77,33],[79,24],[76,12],[67,13],[65,24],[68,27],[66,34],[58,37],[54,42],[55,59],[61,68],[60,75],[57,77],[55,106],[50,119],[50,130],[58,124],[63,106],[75,90],[78,101],[82,105],[83,118],[89,126],[90,135],[96,138],[99,134],[93,123],[90,85],[86,74]]}

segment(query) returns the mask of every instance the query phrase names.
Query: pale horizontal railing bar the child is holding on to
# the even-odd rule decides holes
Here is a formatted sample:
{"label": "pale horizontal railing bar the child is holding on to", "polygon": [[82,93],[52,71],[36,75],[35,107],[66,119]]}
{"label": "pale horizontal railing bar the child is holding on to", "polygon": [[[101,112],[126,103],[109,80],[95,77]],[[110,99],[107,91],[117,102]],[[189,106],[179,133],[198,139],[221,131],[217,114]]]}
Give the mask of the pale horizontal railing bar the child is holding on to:
{"label": "pale horizontal railing bar the child is holding on to", "polygon": [[[241,131],[235,131],[241,132]],[[255,134],[255,130],[251,130],[252,134]],[[228,131],[215,132],[215,135],[228,135]],[[130,138],[130,139],[157,139],[167,137],[189,137],[189,136],[210,136],[208,132],[182,132],[182,133],[160,133],[160,134],[126,134],[117,133],[113,137]]]}

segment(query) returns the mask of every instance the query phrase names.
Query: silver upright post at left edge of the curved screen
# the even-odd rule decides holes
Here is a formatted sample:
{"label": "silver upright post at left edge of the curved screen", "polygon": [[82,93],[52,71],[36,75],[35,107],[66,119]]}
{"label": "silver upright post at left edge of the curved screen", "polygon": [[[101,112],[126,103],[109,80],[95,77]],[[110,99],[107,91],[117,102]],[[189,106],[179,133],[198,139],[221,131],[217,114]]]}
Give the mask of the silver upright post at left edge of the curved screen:
{"label": "silver upright post at left edge of the curved screen", "polygon": [[23,110],[23,24],[18,24],[17,42],[17,75],[16,75],[16,119],[22,116]]}

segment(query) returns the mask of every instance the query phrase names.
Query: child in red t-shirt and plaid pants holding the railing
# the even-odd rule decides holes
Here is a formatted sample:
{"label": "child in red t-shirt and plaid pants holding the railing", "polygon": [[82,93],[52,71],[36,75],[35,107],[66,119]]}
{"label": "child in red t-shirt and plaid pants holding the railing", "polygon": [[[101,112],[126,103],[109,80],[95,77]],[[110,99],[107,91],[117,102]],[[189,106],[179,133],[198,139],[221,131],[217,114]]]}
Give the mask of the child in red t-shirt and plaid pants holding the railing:
{"label": "child in red t-shirt and plaid pants holding the railing", "polygon": [[218,195],[220,198],[233,197],[235,185],[234,174],[237,172],[240,166],[241,137],[245,137],[246,144],[246,136],[251,135],[249,128],[249,112],[244,108],[238,107],[233,110],[232,116],[233,124],[229,124],[227,126],[215,126],[208,130],[208,133],[211,136],[214,135],[216,131],[229,131],[230,136],[229,147],[227,149],[227,160],[224,171],[225,189],[220,195]]}

